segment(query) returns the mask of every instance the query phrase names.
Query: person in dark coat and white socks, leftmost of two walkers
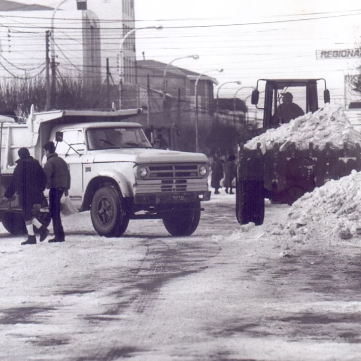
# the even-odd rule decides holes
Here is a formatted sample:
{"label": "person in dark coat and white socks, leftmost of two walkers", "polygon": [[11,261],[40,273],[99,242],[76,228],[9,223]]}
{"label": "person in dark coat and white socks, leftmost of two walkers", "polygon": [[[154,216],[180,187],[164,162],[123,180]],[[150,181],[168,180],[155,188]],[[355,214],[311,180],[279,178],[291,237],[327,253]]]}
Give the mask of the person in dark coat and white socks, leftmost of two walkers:
{"label": "person in dark coat and white socks, leftmost of two walkers", "polygon": [[34,159],[27,148],[20,148],[19,159],[12,180],[4,193],[4,198],[12,197],[16,192],[19,195],[19,205],[23,210],[23,217],[28,237],[21,244],[36,244],[33,225],[39,229],[40,241],[44,241],[49,230],[42,225],[32,214],[34,204],[41,204],[44,198],[46,176],[40,163]]}

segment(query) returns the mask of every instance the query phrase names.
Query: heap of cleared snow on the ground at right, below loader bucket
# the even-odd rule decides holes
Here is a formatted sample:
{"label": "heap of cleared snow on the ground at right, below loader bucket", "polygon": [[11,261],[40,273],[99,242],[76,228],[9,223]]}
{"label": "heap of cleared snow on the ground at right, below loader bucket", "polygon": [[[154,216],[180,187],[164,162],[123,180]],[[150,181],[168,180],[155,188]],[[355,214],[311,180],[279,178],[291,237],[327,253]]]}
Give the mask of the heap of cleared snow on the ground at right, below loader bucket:
{"label": "heap of cleared snow on the ground at right, below loader bucket", "polygon": [[348,240],[361,232],[361,172],[304,194],[271,234],[304,242]]}

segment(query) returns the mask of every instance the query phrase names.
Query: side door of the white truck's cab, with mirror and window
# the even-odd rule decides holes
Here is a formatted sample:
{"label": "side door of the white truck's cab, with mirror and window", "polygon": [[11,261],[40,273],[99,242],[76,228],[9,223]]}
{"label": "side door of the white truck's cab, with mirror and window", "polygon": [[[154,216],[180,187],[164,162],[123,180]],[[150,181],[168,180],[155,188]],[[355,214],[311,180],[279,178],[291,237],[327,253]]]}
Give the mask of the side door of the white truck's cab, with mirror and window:
{"label": "side door of the white truck's cab, with mirror and window", "polygon": [[[66,144],[67,143],[67,144]],[[83,195],[83,166],[84,133],[82,129],[63,130],[63,141],[55,142],[56,152],[68,164],[71,186],[70,196],[82,197]],[[69,145],[71,147],[69,147]]]}

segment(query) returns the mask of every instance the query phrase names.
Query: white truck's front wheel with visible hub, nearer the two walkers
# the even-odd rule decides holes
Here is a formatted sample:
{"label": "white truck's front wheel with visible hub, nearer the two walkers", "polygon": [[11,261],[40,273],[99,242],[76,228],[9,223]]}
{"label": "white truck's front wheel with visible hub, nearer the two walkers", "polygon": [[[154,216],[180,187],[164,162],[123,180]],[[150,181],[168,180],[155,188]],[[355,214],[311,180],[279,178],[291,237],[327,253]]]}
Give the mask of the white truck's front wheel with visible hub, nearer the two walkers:
{"label": "white truck's front wheel with visible hub, nearer the two walkers", "polygon": [[92,199],[90,215],[99,236],[121,237],[128,227],[130,212],[112,184],[99,188]]}

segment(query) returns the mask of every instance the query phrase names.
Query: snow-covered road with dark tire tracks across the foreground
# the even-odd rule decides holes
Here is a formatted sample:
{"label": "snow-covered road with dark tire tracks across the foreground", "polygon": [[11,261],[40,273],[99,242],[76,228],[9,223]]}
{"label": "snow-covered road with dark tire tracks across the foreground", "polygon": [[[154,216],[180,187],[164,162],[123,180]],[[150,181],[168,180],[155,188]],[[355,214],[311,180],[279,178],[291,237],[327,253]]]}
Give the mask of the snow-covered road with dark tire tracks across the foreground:
{"label": "snow-covered road with dark tire tracks across the foreground", "polygon": [[159,220],[101,238],[88,213],[62,244],[1,227],[0,360],[360,360],[359,242],[281,257],[264,236],[288,206],[267,202],[261,227],[232,195],[203,206],[187,238]]}

